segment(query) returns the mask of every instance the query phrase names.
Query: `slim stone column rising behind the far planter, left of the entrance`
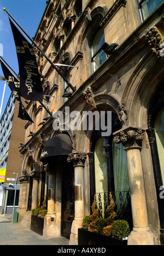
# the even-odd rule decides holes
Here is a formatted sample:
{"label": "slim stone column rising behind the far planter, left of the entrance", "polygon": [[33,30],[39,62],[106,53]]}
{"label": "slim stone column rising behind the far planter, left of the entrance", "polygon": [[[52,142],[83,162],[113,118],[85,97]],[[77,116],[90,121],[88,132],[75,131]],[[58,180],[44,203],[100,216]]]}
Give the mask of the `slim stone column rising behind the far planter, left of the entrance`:
{"label": "slim stone column rising behind the far planter, left of the entrance", "polygon": [[32,206],[31,209],[36,209],[38,204],[38,188],[39,188],[39,178],[40,172],[36,172],[33,170],[31,172],[31,176],[33,177],[33,186],[32,186]]}

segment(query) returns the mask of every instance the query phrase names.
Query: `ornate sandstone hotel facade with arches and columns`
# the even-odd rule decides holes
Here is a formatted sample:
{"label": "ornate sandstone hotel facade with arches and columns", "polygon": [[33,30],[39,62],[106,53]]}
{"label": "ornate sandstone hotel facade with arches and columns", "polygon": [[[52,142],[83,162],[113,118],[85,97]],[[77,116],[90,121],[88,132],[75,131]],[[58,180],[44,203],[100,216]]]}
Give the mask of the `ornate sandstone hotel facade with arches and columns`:
{"label": "ornate sandstone hotel facade with arches and columns", "polygon": [[[77,245],[78,228],[91,213],[94,195],[104,215],[112,191],[120,214],[119,200],[127,208],[131,198],[133,230],[128,245],[163,243],[162,2],[47,4],[34,39],[52,62],[69,65],[57,67],[75,92],[37,51],[44,104],[53,117],[38,102],[28,103],[34,124],[26,124],[20,151],[24,160],[18,212],[21,222],[27,210],[46,197],[46,237],[70,237],[70,245]],[[72,118],[75,113],[82,117],[89,111],[112,112],[112,135],[103,137],[102,127],[98,130],[96,125],[72,131],[58,123],[58,131],[54,130],[60,115],[56,113],[67,123],[68,107]],[[83,126],[84,119],[76,121]],[[91,121],[87,119],[88,124]]]}

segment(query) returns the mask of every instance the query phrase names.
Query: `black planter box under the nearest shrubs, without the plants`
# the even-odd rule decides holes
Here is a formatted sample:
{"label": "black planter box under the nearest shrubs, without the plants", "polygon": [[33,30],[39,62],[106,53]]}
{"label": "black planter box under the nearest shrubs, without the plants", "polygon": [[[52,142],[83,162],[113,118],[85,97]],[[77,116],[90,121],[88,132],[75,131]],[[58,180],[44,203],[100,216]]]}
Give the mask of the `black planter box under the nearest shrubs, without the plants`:
{"label": "black planter box under the nearest shrubs, without the plants", "polygon": [[126,245],[127,240],[120,240],[109,236],[102,236],[96,233],[89,232],[85,229],[78,229],[78,245]]}

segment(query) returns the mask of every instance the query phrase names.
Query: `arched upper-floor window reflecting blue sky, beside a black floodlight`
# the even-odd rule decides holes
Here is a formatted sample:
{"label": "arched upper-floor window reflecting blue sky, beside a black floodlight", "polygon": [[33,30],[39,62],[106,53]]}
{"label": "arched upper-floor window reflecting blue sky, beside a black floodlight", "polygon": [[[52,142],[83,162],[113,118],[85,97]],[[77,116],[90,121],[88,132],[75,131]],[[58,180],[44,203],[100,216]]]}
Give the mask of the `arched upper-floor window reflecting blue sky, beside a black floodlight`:
{"label": "arched upper-floor window reflecting blue sky, beside a black floodlight", "polygon": [[105,43],[104,31],[99,30],[96,34],[92,43],[92,62],[93,62],[93,72],[97,70],[99,66],[106,61],[106,53],[101,49],[102,45]]}

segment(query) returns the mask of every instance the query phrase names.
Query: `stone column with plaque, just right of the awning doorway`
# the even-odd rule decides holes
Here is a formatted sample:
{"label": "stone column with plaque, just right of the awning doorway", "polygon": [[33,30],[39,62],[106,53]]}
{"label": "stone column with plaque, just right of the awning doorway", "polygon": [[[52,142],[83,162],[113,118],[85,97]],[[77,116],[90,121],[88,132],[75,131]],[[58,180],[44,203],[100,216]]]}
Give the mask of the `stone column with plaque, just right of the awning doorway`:
{"label": "stone column with plaque, just right of the awning doorway", "polygon": [[68,162],[74,164],[74,191],[75,191],[75,218],[72,223],[69,245],[78,245],[78,229],[84,217],[84,165],[87,154],[72,153],[68,156]]}

